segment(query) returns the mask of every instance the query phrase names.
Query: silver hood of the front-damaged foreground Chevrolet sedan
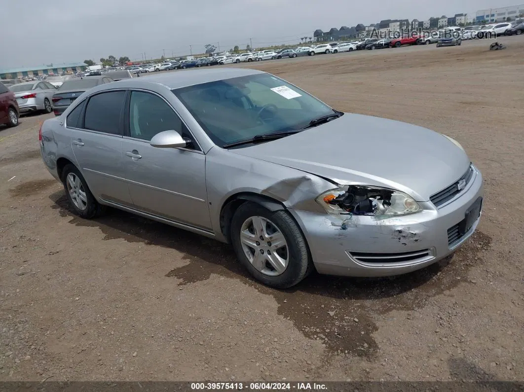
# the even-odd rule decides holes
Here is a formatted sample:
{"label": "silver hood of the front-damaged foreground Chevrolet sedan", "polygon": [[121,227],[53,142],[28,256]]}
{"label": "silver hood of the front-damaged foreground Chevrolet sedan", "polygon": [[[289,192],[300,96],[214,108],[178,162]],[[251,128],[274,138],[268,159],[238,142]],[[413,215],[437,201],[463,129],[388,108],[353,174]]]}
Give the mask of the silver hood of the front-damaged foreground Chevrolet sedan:
{"label": "silver hood of the front-damaged foreground Chevrolet sedan", "polygon": [[405,122],[346,113],[318,127],[230,152],[292,167],[336,184],[384,186],[417,201],[458,180],[466,153],[440,133]]}

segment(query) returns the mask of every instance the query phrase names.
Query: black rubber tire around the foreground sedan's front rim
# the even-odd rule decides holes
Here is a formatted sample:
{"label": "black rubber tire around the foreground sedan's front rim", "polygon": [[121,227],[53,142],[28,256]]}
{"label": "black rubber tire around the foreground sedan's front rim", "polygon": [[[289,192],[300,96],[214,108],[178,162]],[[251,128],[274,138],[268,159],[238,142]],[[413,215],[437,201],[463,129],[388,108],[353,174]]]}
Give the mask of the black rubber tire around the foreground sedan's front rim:
{"label": "black rubber tire around the foreground sedan's front rim", "polygon": [[[267,243],[271,243],[270,240],[273,237],[271,237],[272,234],[266,234],[269,232],[268,228],[274,228],[280,232],[278,233],[276,231],[274,234],[281,234],[281,238],[285,242],[285,249],[283,247],[279,248],[282,253],[285,250],[285,256],[282,256],[282,253],[278,255],[282,257],[282,259],[284,257],[287,259],[287,266],[283,267],[282,272],[278,273],[276,270],[271,271],[271,264],[267,261],[261,262],[262,266],[259,265],[257,269],[257,267],[254,266],[256,262],[252,263],[252,261],[248,259],[248,255],[253,259],[255,255],[260,256],[259,253],[261,253],[264,254],[264,256],[260,256],[263,257],[262,260],[267,260],[265,257],[269,254],[267,249],[264,253],[255,248],[246,248],[245,242],[243,246],[241,233],[248,231],[244,225],[252,218],[262,218],[263,220],[259,220],[260,223],[265,223],[264,229],[260,228],[260,232],[263,234],[262,239],[260,239],[260,237],[256,238],[255,234],[253,234],[254,240],[260,241],[257,242],[258,244],[266,245],[266,241],[268,240],[269,242]],[[253,227],[250,227],[249,233],[251,231],[254,233],[257,232],[257,230],[253,229]],[[294,286],[302,281],[312,270],[308,245],[305,242],[302,231],[286,210],[272,212],[255,203],[244,203],[238,207],[233,215],[231,222],[231,239],[238,260],[255,279],[267,286],[276,288]],[[269,250],[271,249],[274,248],[269,245]],[[275,257],[277,254],[276,251],[273,251],[273,254],[273,257]]]}

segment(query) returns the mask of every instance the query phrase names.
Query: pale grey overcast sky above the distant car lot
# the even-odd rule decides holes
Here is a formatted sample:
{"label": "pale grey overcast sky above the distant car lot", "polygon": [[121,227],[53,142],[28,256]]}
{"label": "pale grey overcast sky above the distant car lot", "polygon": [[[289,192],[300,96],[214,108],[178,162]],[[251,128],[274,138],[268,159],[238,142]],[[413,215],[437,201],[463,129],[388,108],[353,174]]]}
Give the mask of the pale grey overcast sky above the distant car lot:
{"label": "pale grey overcast sky above the distant car lot", "polygon": [[[510,6],[509,0],[12,0],[2,4],[0,70],[49,63],[141,60],[297,43],[313,30],[369,25],[381,19],[428,19]],[[361,4],[362,6],[360,6]],[[519,4],[516,2],[515,4]]]}

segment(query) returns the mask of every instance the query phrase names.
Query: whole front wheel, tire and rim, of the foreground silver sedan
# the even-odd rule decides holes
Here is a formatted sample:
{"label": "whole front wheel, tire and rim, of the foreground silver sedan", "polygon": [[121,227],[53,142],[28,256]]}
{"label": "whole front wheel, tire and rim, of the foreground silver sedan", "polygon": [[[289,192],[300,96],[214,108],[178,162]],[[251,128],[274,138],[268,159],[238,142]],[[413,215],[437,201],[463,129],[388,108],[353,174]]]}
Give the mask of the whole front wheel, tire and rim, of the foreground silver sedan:
{"label": "whole front wheel, tire and rim, of the foreground silver sedan", "polygon": [[244,203],[233,216],[231,239],[238,260],[267,286],[294,286],[311,271],[308,245],[285,210]]}

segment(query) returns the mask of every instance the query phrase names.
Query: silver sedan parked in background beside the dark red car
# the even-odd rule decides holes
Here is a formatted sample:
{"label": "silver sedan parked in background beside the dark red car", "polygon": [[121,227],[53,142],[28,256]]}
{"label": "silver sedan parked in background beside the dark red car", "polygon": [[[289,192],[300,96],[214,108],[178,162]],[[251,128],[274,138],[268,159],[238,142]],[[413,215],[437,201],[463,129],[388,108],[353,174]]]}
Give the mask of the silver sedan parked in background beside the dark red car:
{"label": "silver sedan parked in background beside the dark red car", "polygon": [[56,87],[47,82],[27,82],[15,84],[9,89],[15,93],[20,113],[43,111],[51,113],[52,96],[57,92]]}

